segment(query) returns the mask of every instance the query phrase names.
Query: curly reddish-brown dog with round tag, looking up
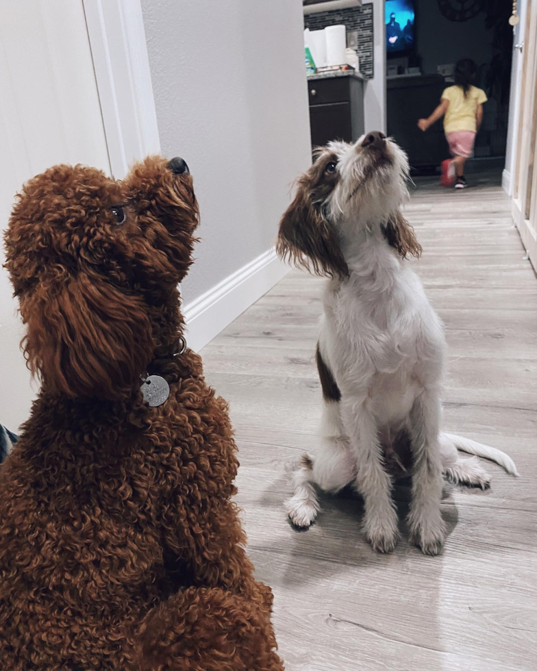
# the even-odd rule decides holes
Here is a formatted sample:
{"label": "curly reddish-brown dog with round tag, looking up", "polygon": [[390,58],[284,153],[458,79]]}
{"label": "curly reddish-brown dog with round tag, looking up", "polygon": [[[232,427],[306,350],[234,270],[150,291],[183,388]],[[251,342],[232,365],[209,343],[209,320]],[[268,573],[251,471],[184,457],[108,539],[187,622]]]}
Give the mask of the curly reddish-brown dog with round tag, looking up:
{"label": "curly reddish-brown dog with round tag, looking up", "polygon": [[[42,388],[0,469],[5,671],[283,668],[227,405],[179,346],[197,223],[178,158],[121,182],[55,166],[18,196],[7,268]],[[146,374],[169,383],[158,407]]]}

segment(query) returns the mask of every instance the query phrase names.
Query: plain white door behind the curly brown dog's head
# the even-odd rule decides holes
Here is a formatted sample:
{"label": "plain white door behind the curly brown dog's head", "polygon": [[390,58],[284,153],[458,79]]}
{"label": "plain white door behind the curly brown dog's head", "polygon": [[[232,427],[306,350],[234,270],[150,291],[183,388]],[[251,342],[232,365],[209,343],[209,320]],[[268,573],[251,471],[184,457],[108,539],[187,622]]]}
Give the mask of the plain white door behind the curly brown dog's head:
{"label": "plain white door behind the curly brown dog's head", "polygon": [[[0,227],[22,183],[57,163],[110,174],[82,0],[0,0]],[[3,263],[3,244],[0,262]],[[0,423],[16,431],[34,398],[21,320],[0,267]]]}

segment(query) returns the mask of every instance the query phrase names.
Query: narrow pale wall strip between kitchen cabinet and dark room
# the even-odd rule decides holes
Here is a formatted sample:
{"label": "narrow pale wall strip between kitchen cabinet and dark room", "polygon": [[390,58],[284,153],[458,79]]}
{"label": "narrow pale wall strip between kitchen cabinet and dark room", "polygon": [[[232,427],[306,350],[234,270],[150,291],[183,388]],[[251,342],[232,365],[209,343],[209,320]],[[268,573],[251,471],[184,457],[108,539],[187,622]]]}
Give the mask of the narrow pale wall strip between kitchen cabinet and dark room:
{"label": "narrow pale wall strip between kitchen cabinet and dark room", "polygon": [[373,0],[373,79],[364,92],[365,129],[386,133],[386,41],[384,0]]}

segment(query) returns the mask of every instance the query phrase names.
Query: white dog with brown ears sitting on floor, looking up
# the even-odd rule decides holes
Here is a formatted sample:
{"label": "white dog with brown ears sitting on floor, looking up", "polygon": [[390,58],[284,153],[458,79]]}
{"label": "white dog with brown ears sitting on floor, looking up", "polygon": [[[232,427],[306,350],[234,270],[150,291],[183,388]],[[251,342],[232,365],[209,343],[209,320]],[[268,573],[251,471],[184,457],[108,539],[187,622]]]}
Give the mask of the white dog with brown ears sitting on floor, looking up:
{"label": "white dog with brown ears sitting on floor, looking up", "polygon": [[412,474],[408,523],[412,540],[436,555],[445,539],[442,474],[488,487],[475,457],[517,475],[495,448],[440,432],[446,341],[442,322],[410,265],[421,246],[401,215],[408,199],[408,160],[382,133],[355,144],[332,142],[298,181],[282,217],[280,256],[329,277],[317,348],[323,388],[322,447],[303,457],[286,504],[308,527],[319,503],[314,485],[337,492],[353,485],[364,498],[364,532],[375,550],[398,537],[391,490]]}

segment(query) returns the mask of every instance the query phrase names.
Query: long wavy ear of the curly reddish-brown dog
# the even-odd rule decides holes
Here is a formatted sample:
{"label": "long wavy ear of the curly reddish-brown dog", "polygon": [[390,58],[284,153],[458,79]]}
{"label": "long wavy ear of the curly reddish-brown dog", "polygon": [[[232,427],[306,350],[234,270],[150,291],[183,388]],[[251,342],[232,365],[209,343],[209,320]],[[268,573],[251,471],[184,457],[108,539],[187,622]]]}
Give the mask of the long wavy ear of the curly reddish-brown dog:
{"label": "long wavy ear of the curly reddish-brown dog", "polygon": [[58,291],[21,296],[27,365],[47,390],[111,401],[132,393],[151,361],[151,323],[141,301],[79,272]]}

